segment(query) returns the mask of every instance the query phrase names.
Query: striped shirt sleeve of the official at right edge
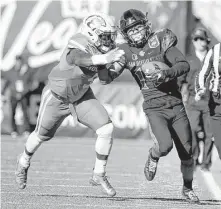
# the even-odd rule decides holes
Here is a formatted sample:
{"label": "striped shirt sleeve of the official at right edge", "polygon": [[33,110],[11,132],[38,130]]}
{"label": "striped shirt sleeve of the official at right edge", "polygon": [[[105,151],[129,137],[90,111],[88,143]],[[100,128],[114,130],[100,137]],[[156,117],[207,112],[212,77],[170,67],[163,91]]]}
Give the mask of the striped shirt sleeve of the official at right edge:
{"label": "striped shirt sleeve of the official at right edge", "polygon": [[200,70],[198,76],[195,80],[195,87],[196,92],[198,92],[200,89],[205,89],[205,84],[207,78],[209,78],[210,73],[213,71],[213,49],[210,49],[207,53],[203,67]]}

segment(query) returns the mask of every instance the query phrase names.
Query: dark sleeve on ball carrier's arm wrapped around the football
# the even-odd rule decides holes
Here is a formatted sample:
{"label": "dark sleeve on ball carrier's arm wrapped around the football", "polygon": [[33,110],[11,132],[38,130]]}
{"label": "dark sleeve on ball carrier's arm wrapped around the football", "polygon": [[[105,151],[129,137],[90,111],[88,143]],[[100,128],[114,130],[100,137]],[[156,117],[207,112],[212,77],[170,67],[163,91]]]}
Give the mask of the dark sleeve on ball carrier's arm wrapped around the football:
{"label": "dark sleeve on ball carrier's arm wrapped around the football", "polygon": [[175,46],[167,49],[164,58],[166,60],[166,63],[168,63],[170,66],[172,65],[170,69],[163,71],[166,78],[169,78],[171,80],[189,72],[189,63],[186,61],[183,54]]}

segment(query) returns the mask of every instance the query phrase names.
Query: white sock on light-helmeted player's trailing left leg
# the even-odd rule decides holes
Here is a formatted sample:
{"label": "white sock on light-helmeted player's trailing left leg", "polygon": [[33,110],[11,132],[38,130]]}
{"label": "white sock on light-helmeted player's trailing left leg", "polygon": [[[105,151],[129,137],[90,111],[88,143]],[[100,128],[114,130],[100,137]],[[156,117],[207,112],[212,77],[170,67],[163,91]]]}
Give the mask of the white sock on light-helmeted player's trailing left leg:
{"label": "white sock on light-helmeted player's trailing left leg", "polygon": [[38,149],[38,147],[40,147],[41,143],[43,141],[37,136],[36,132],[33,131],[25,144],[25,150],[21,155],[21,158],[19,159],[19,162],[27,167],[30,164],[30,160],[33,156],[33,154],[35,153],[35,151]]}

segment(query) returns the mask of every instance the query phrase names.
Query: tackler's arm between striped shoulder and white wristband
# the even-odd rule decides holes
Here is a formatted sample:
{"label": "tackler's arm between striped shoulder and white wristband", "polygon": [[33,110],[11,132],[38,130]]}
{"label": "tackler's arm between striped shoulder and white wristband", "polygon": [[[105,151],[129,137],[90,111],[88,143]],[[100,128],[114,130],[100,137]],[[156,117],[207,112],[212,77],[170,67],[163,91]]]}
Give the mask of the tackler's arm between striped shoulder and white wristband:
{"label": "tackler's arm between striped shoulder and white wristband", "polygon": [[92,55],[76,48],[69,49],[66,60],[69,65],[78,65],[82,67],[93,65]]}

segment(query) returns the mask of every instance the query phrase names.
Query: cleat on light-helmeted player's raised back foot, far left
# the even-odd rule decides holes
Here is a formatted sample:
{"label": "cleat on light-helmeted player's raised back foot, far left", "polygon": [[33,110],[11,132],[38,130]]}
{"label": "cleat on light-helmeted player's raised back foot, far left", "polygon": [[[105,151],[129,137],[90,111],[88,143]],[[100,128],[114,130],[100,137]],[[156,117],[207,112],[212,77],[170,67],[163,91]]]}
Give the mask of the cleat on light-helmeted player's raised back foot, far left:
{"label": "cleat on light-helmeted player's raised back foot, far left", "polygon": [[15,180],[18,185],[19,189],[24,189],[26,187],[27,183],[27,174],[28,174],[28,168],[30,167],[30,163],[24,167],[20,163],[21,155],[18,156],[17,159],[17,167],[15,171]]}

